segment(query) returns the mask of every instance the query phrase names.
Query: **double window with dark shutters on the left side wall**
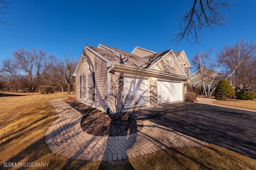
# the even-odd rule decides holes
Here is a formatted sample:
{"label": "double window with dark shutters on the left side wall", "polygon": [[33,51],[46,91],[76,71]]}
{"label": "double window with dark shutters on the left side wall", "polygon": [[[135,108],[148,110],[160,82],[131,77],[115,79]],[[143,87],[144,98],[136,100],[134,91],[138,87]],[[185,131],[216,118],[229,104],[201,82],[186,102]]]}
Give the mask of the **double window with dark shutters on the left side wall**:
{"label": "double window with dark shutters on the left side wall", "polygon": [[94,101],[94,73],[82,76],[82,98]]}

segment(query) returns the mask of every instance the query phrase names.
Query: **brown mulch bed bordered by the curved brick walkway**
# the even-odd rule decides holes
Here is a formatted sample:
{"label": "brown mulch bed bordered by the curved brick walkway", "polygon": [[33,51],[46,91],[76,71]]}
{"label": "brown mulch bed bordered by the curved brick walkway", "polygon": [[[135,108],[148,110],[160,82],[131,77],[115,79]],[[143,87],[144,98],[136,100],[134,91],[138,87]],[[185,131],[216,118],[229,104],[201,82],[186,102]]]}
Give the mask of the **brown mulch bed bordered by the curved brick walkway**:
{"label": "brown mulch bed bordered by the curved brick walkway", "polygon": [[143,128],[143,119],[126,113],[122,120],[112,120],[110,116],[94,107],[74,99],[65,100],[67,104],[82,113],[81,128],[96,136],[124,136],[136,133]]}

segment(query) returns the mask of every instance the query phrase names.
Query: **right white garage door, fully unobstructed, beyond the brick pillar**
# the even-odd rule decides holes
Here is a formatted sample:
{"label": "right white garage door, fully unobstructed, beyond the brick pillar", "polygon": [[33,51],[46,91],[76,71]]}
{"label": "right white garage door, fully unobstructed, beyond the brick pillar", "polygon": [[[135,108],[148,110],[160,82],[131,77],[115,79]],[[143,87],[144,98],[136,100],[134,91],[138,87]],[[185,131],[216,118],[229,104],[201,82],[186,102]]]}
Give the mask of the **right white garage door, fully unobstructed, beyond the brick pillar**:
{"label": "right white garage door, fully unobstructed, beyond the brick pillar", "polygon": [[182,82],[157,81],[157,104],[182,100]]}

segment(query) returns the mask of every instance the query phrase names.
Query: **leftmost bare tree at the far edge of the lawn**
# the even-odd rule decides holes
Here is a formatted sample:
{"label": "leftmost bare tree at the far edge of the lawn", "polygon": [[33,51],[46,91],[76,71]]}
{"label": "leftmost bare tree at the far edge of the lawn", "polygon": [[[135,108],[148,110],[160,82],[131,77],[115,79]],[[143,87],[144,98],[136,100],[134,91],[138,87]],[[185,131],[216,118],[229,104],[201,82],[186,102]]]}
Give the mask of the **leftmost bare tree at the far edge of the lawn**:
{"label": "leftmost bare tree at the far edge of the lawn", "polygon": [[5,59],[2,63],[4,65],[4,76],[8,78],[10,91],[12,92],[14,83],[16,82],[16,75],[18,73],[18,64],[10,58]]}

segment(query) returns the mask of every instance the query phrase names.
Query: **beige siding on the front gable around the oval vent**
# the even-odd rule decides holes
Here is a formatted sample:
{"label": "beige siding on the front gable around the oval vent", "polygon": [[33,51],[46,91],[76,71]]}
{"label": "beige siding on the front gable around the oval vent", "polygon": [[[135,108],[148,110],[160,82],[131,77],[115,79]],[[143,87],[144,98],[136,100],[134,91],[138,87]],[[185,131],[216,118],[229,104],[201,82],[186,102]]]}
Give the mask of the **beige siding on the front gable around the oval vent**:
{"label": "beige siding on the front gable around the oval vent", "polygon": [[[172,60],[174,62],[173,67],[170,67],[170,64],[169,64],[170,58],[172,58]],[[180,64],[180,63],[177,63],[177,61],[174,59],[174,57],[170,53],[169,55],[164,57],[164,59],[162,59],[162,61],[160,61],[158,64],[156,64],[156,66],[154,66],[152,69],[158,70],[161,72],[168,72],[171,74],[184,76],[184,73],[182,72],[182,70],[178,64]]]}

